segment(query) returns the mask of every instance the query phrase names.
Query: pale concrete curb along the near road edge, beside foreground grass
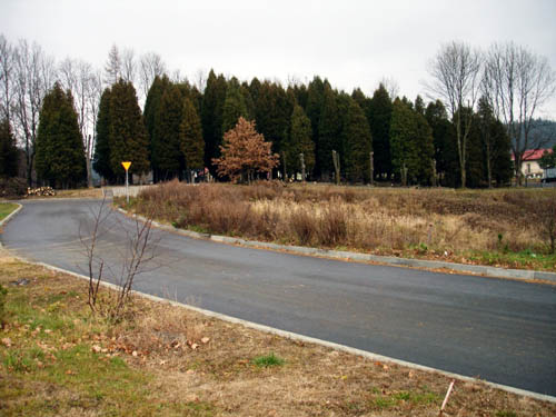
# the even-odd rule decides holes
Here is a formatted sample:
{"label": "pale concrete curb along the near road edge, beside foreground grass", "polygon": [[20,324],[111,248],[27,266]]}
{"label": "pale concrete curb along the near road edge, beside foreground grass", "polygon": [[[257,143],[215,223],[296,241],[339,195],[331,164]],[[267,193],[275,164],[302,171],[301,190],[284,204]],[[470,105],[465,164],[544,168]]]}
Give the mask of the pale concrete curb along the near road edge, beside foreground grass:
{"label": "pale concrete curb along the near road edge, beside foreground grass", "polygon": [[[76,278],[79,278],[79,279],[89,280],[89,277],[86,277],[85,275],[80,275],[80,274],[72,272],[72,271],[69,271],[69,270],[66,270],[66,269],[62,269],[62,268],[53,267],[51,265],[43,264],[43,262],[33,262],[33,261],[29,261],[29,260],[27,260],[24,258],[20,258],[20,259],[22,259],[22,260],[24,260],[27,262],[30,262],[30,264],[39,265],[39,266],[41,266],[43,268],[47,268],[47,269],[50,269],[50,270],[53,270],[53,271],[57,271],[57,272],[62,272],[62,274],[67,274],[67,275],[70,275],[72,277],[76,277]],[[119,287],[116,286],[116,285],[113,285],[113,284],[101,282],[101,285],[105,286],[105,287],[107,287],[107,288],[111,288],[111,289],[116,289],[116,290],[119,289]],[[549,396],[549,395],[533,393],[533,391],[528,391],[528,390],[525,390],[525,389],[514,388],[514,387],[510,387],[510,386],[507,386],[507,385],[500,385],[500,384],[489,383],[489,381],[483,380],[483,379],[466,377],[464,375],[448,373],[448,371],[445,371],[445,370],[441,370],[441,369],[436,369],[436,368],[431,368],[431,367],[424,366],[424,365],[418,365],[418,364],[414,364],[414,363],[409,363],[409,361],[405,361],[405,360],[400,360],[400,359],[396,359],[396,358],[390,358],[390,357],[384,356],[384,355],[373,354],[373,353],[367,351],[367,350],[361,350],[361,349],[353,348],[353,347],[349,347],[349,346],[339,345],[339,344],[335,344],[335,342],[331,342],[331,341],[321,340],[321,339],[317,339],[317,338],[314,338],[314,337],[308,337],[308,336],[299,335],[299,334],[291,332],[291,331],[276,329],[274,327],[269,327],[269,326],[265,326],[265,325],[259,325],[259,324],[256,324],[256,322],[252,322],[252,321],[242,320],[242,319],[239,319],[239,318],[236,318],[236,317],[231,317],[231,316],[226,316],[226,315],[222,315],[220,312],[215,312],[215,311],[206,310],[206,309],[202,309],[202,308],[193,307],[193,306],[190,306],[190,305],[187,305],[187,304],[168,300],[166,298],[161,298],[161,297],[157,297],[157,296],[151,296],[150,294],[140,292],[140,291],[137,291],[137,290],[132,290],[131,292],[133,295],[147,298],[147,299],[156,301],[156,302],[167,302],[167,304],[169,304],[171,306],[177,306],[177,307],[186,308],[188,310],[202,314],[202,315],[205,315],[207,317],[212,317],[212,318],[216,318],[216,319],[219,319],[219,320],[224,320],[224,321],[227,321],[227,322],[231,322],[231,324],[236,324],[236,325],[241,325],[241,326],[245,326],[247,328],[251,328],[251,329],[255,329],[255,330],[264,331],[266,334],[276,335],[276,336],[279,336],[279,337],[285,337],[285,338],[288,338],[288,339],[291,339],[291,340],[298,340],[298,341],[302,341],[302,342],[307,342],[307,344],[314,344],[314,345],[324,346],[324,347],[327,347],[327,348],[330,348],[330,349],[334,349],[334,350],[339,350],[339,351],[344,351],[344,353],[347,353],[347,354],[350,354],[350,355],[356,355],[356,356],[364,357],[364,358],[367,358],[367,359],[370,359],[370,360],[374,360],[374,361],[381,361],[381,363],[395,364],[395,365],[404,366],[404,367],[407,367],[407,368],[410,368],[410,369],[423,370],[423,371],[427,371],[427,373],[434,373],[434,374],[440,375],[440,376],[446,377],[446,378],[457,379],[457,380],[463,381],[463,383],[483,384],[483,385],[486,385],[486,386],[488,386],[490,388],[500,389],[500,390],[504,390],[506,393],[516,394],[516,395],[519,395],[519,396],[525,396],[525,397],[538,399],[538,400],[542,400],[542,401],[548,401],[548,403],[556,404],[556,397],[553,397],[553,396]]]}

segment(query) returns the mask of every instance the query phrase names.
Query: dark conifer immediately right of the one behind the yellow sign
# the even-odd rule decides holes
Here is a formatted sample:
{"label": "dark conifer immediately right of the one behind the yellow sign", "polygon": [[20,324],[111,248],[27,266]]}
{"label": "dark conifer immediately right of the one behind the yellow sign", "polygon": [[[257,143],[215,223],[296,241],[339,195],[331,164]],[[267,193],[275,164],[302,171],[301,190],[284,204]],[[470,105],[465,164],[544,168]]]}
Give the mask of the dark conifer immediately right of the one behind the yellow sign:
{"label": "dark conifer immediately right of the one behind the yellow sign", "polygon": [[182,115],[183,98],[180,88],[170,85],[160,99],[152,138],[152,168],[160,180],[181,178],[185,168],[179,139]]}

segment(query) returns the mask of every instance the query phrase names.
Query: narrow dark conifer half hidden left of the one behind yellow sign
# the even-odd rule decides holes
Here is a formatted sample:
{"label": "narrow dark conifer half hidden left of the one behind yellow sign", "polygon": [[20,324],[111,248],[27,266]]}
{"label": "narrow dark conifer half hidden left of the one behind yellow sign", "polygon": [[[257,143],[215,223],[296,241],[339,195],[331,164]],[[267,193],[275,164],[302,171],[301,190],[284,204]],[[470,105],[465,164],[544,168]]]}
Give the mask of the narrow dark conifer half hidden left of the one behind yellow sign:
{"label": "narrow dark conifer half hidden left of the one behind yellow sign", "polygon": [[97,141],[95,143],[95,155],[92,167],[108,182],[113,182],[116,175],[110,165],[110,89],[107,88],[100,97],[99,113],[97,117]]}

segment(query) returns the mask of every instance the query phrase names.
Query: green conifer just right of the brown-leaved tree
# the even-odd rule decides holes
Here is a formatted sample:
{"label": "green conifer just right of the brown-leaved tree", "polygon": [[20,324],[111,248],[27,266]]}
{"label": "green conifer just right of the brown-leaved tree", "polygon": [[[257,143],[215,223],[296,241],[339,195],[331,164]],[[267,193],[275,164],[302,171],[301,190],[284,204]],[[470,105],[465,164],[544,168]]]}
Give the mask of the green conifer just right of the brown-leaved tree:
{"label": "green conifer just right of the brown-leaved tree", "polygon": [[306,172],[310,175],[315,167],[315,143],[311,139],[311,122],[304,109],[295,105],[291,113],[289,136],[285,143],[286,171],[288,175],[301,172],[300,153],[304,155]]}

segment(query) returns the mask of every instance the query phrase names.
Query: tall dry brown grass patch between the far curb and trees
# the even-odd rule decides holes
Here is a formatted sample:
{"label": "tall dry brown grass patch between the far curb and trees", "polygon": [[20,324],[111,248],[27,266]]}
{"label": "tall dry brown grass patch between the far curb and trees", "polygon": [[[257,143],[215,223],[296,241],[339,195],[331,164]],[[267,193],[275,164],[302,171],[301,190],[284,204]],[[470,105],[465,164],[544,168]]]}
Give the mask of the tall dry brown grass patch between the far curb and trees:
{"label": "tall dry brown grass patch between the far curb and trees", "polygon": [[554,189],[454,191],[280,182],[192,187],[173,181],[143,191],[133,205],[139,212],[156,208],[159,219],[176,227],[211,234],[556,270],[556,257],[549,255]]}

